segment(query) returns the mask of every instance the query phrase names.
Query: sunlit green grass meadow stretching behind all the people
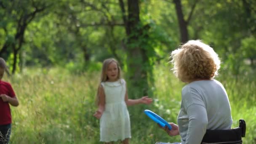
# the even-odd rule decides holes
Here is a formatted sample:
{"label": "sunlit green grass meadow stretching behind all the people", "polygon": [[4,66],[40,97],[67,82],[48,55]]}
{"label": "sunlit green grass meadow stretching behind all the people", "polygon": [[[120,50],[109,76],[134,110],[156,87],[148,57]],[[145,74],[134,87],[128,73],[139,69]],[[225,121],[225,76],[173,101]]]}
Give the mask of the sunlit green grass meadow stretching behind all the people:
{"label": "sunlit green grass meadow stretching behind all the people", "polygon": [[[181,88],[169,66],[154,70],[154,99],[151,105],[128,107],[131,117],[131,144],[155,144],[156,141],[180,141],[168,136],[144,115],[150,109],[176,123],[180,108]],[[100,144],[99,120],[93,117],[99,72],[72,75],[65,69],[25,69],[23,74],[3,80],[11,82],[19,107],[11,107],[13,125],[10,144]],[[233,125],[244,119],[247,124],[244,144],[256,144],[255,78],[237,79],[220,73],[232,107]],[[126,80],[128,81],[128,80]],[[131,89],[128,93],[136,93]],[[140,96],[137,96],[138,98]]]}

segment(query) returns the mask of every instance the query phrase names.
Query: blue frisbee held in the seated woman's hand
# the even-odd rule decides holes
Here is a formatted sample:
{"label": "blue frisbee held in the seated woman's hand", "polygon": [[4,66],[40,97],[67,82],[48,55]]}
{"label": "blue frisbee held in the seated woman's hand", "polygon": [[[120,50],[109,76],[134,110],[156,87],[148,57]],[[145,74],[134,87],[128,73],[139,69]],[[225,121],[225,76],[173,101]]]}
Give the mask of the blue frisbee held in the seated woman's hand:
{"label": "blue frisbee held in the seated woman's hand", "polygon": [[167,123],[166,120],[164,120],[162,117],[160,117],[159,115],[155,114],[154,112],[146,109],[144,110],[144,113],[151,118],[152,120],[154,120],[156,123],[158,123],[159,125],[161,125],[161,127],[165,127],[165,125],[168,127],[168,129],[171,131],[171,125],[169,123]]}

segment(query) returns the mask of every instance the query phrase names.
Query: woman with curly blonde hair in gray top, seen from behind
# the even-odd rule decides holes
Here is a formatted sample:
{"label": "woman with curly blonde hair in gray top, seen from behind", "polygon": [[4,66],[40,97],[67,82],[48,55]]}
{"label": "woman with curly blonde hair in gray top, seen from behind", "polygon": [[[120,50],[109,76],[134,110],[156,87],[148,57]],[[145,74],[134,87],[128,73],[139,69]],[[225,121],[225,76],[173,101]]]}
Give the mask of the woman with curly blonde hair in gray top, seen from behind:
{"label": "woman with curly blonde hair in gray top, seen from behind", "polygon": [[[206,129],[226,130],[232,125],[231,108],[223,85],[213,79],[220,60],[209,45],[189,40],[171,53],[173,73],[184,83],[178,125],[170,123],[170,136],[181,136],[179,144],[200,144]],[[161,142],[158,142],[161,144]],[[162,143],[164,144],[164,143]]]}

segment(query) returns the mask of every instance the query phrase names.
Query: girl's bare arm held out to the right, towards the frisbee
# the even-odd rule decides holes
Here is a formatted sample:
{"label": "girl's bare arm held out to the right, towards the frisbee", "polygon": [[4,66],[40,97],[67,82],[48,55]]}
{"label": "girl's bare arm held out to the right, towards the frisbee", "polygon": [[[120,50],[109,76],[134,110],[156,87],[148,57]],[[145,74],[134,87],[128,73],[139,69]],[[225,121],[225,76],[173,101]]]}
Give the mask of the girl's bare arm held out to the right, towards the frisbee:
{"label": "girl's bare arm held out to the right, towards the frisbee", "polygon": [[132,105],[135,105],[135,104],[151,104],[152,99],[148,98],[148,96],[143,96],[141,99],[128,99],[128,93],[127,93],[127,90],[126,90],[125,91],[125,103],[126,103],[127,106],[132,106]]}

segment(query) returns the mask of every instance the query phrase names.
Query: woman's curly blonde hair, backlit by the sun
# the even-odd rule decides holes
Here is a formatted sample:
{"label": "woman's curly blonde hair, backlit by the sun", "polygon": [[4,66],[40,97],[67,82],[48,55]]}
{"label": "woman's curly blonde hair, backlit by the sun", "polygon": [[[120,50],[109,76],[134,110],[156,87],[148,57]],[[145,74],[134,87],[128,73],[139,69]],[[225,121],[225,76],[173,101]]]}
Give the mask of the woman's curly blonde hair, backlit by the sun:
{"label": "woman's curly blonde hair, backlit by the sun", "polygon": [[189,40],[171,53],[173,73],[179,80],[211,79],[218,75],[220,59],[209,45],[201,40]]}

